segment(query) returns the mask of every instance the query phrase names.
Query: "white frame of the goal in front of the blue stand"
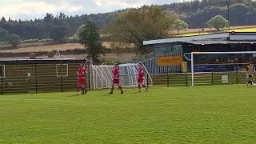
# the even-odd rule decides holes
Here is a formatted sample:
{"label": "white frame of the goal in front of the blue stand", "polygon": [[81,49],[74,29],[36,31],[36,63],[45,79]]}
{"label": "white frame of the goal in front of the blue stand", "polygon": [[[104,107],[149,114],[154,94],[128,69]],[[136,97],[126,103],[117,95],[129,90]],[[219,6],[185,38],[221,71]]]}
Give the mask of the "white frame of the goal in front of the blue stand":
{"label": "white frame of the goal in front of the blue stand", "polygon": [[[187,58],[186,54],[190,54],[191,58]],[[185,53],[184,57],[191,62],[191,74],[192,74],[192,83],[191,86],[194,86],[194,55],[197,54],[256,54],[256,51],[230,51],[230,52],[192,52]]]}

